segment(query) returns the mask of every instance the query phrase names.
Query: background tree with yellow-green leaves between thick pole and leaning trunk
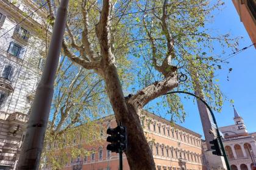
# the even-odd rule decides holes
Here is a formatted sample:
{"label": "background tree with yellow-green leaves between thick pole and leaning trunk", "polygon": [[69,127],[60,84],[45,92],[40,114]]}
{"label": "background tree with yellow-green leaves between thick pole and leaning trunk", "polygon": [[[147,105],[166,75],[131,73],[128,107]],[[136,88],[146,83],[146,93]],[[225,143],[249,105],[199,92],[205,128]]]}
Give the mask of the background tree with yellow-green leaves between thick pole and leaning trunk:
{"label": "background tree with yellow-green leaves between thick pole and leaning trunk", "polygon": [[91,70],[77,67],[67,58],[62,58],[55,81],[41,166],[50,162],[53,169],[62,168],[70,157],[90,154],[82,147],[84,142],[91,145],[95,141],[102,142],[101,120],[95,120],[99,114],[101,117],[105,115],[108,109],[108,105],[104,104],[107,97],[103,85],[102,79],[95,77]]}

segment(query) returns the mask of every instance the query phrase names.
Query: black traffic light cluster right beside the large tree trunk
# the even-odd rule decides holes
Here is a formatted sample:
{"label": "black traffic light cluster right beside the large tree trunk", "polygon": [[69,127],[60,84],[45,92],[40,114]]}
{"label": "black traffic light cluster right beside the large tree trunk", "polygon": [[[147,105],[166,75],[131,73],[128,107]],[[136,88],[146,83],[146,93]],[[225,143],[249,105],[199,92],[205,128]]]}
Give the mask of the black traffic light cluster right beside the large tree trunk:
{"label": "black traffic light cluster right beside the large tree trunk", "polygon": [[111,143],[107,145],[107,150],[116,152],[116,153],[126,151],[126,147],[127,147],[126,127],[117,126],[114,129],[108,128],[107,134],[110,135],[107,137],[107,141]]}

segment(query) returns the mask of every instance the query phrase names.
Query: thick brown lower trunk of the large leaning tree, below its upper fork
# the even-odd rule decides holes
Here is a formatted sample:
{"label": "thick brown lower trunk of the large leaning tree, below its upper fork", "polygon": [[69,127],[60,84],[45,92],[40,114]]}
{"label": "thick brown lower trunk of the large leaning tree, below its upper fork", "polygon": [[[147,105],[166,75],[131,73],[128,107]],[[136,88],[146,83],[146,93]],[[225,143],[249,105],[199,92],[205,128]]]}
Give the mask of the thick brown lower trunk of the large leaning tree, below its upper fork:
{"label": "thick brown lower trunk of the large leaning tree, below its upper fork", "polygon": [[107,94],[112,104],[117,123],[121,121],[127,127],[126,156],[131,170],[155,169],[154,158],[138,117],[139,109],[126,103],[121,83],[114,64],[104,67]]}

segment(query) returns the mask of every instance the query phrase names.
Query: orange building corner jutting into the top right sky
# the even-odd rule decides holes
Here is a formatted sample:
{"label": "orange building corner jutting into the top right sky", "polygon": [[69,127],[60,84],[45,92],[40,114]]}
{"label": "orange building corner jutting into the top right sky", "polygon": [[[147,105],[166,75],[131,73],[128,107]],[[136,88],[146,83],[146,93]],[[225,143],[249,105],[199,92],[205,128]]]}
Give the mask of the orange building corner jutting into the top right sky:
{"label": "orange building corner jutting into the top right sky", "polygon": [[256,0],[232,0],[254,47],[256,48]]}

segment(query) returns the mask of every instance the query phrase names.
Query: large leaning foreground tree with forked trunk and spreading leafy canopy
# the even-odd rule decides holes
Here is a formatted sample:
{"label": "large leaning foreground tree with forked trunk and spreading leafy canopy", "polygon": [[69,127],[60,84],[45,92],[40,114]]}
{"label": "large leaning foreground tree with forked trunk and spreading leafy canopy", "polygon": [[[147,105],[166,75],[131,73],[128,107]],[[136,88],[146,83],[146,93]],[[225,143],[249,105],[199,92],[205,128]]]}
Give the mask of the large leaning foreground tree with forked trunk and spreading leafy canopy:
{"label": "large leaning foreground tree with forked trunk and spreading leafy canopy", "polygon": [[[49,16],[54,16],[48,3]],[[217,42],[223,49],[237,45],[228,34],[210,35],[205,27],[221,5],[207,0],[70,2],[63,53],[104,80],[116,121],[127,127],[130,169],[155,169],[139,119],[150,101],[174,88],[193,90],[191,79],[197,78],[207,99],[220,109],[222,95],[213,78],[223,60],[213,55],[213,49]],[[183,83],[182,72],[188,75]],[[124,79],[132,80],[130,75],[134,81],[127,83]],[[124,88],[126,83],[130,89]],[[124,90],[134,94],[124,97]],[[184,118],[176,95],[163,99],[170,114]]]}

